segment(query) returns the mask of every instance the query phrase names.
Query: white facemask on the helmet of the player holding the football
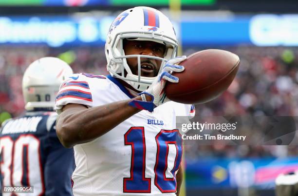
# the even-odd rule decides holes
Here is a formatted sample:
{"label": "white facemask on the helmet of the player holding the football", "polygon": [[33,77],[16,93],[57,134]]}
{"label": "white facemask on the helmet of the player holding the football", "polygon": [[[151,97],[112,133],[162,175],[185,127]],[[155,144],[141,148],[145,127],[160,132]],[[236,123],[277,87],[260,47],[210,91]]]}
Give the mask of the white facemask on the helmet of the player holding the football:
{"label": "white facemask on the helmet of the player holding the football", "polygon": [[[169,59],[173,59],[176,56],[177,47],[178,47],[178,42],[176,40],[171,40],[171,38],[168,38],[167,40],[165,39],[165,36],[161,34],[154,34],[154,32],[149,32],[149,33],[143,32],[142,34],[143,35],[140,35],[139,32],[119,33],[116,39],[114,39],[114,41],[112,42],[112,50],[111,50],[112,59],[107,65],[107,68],[113,77],[120,78],[126,81],[135,90],[138,90],[138,91],[146,90],[149,87],[149,85],[153,82],[153,80],[156,78],[156,77],[141,76],[141,58],[160,60],[161,66],[158,71],[158,74],[160,74],[166,62]],[[135,39],[135,40],[141,40],[141,41],[154,41],[158,43],[163,43],[166,45],[164,58],[149,56],[149,55],[125,55],[125,52],[123,49],[124,39]],[[132,74],[130,66],[127,63],[127,59],[129,58],[137,58],[138,75]],[[115,69],[115,66],[117,66],[116,69]]]}

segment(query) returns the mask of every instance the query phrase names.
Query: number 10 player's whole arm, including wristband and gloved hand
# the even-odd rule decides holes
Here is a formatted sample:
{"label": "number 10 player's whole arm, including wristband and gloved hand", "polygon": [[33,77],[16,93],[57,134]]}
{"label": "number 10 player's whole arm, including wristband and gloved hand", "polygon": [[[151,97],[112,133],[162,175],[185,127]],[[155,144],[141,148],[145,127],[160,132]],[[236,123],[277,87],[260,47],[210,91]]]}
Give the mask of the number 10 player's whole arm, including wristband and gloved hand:
{"label": "number 10 player's whole arm, including wristband and gloved hand", "polygon": [[[156,77],[145,92],[142,92],[136,98],[91,108],[88,108],[87,104],[64,103],[62,113],[56,122],[57,136],[63,146],[70,148],[76,144],[92,141],[112,130],[115,126],[143,109],[153,112],[155,107],[169,100],[163,91],[166,80],[169,82],[178,82],[178,78],[172,76],[170,72],[182,72],[184,67],[174,64],[185,59],[186,56],[168,60],[161,74]],[[84,84],[84,87],[89,89],[87,82],[76,82],[76,85],[78,83]],[[67,88],[67,85],[65,88]],[[56,105],[59,105],[57,102],[60,102],[63,98],[62,95],[64,94],[62,92],[61,94],[58,93]],[[79,97],[77,94],[81,93],[76,92],[72,96]],[[85,95],[86,94],[88,95],[87,92],[85,92]],[[89,100],[92,101],[90,96]]]}

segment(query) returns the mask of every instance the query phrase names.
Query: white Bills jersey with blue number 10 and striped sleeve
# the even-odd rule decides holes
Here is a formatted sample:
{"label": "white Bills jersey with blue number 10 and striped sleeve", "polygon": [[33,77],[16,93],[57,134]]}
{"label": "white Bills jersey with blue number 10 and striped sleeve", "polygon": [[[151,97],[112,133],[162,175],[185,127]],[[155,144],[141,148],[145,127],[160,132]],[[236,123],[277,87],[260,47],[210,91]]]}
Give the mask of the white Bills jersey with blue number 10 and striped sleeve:
{"label": "white Bills jersey with blue number 10 and striped sleeve", "polygon": [[[111,76],[75,74],[60,87],[57,112],[68,103],[96,107],[133,98]],[[126,119],[105,135],[75,145],[75,196],[175,196],[182,138],[176,116],[194,116],[194,107],[167,102]]]}

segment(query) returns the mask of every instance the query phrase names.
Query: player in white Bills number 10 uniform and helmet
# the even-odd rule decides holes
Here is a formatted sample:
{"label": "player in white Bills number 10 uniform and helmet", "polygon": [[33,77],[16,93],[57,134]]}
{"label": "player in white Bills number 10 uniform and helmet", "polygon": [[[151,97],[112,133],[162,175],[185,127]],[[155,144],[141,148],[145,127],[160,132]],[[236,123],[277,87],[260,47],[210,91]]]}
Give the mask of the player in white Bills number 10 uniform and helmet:
{"label": "player in white Bills number 10 uniform and helmet", "polygon": [[186,59],[170,20],[134,7],[112,23],[105,46],[111,75],[75,74],[56,97],[57,135],[75,150],[75,196],[174,196],[182,181],[176,116],[191,105],[169,101],[166,82]]}

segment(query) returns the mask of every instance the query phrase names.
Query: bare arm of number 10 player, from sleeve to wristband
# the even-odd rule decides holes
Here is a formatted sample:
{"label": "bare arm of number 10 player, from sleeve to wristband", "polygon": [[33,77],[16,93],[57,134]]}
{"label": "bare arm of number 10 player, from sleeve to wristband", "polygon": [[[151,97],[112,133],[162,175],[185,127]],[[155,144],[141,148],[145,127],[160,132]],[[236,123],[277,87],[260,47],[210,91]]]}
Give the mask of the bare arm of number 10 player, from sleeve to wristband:
{"label": "bare arm of number 10 player, from sleeve to wristband", "polygon": [[[147,101],[151,97],[146,95]],[[112,128],[130,118],[141,110],[129,105],[136,98],[117,101],[106,105],[87,108],[81,104],[67,104],[56,121],[56,133],[66,148],[76,144],[92,141],[110,131]]]}

